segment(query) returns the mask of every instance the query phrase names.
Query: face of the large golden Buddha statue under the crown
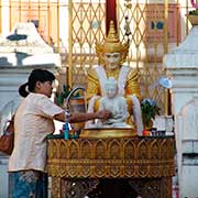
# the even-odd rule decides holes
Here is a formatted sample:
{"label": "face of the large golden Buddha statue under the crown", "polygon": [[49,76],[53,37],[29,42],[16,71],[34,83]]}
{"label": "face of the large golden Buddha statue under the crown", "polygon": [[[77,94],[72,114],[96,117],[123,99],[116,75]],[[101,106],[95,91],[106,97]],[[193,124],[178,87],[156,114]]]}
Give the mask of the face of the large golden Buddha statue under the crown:
{"label": "face of the large golden Buddha statue under the crown", "polygon": [[105,53],[106,68],[113,70],[120,66],[120,53]]}

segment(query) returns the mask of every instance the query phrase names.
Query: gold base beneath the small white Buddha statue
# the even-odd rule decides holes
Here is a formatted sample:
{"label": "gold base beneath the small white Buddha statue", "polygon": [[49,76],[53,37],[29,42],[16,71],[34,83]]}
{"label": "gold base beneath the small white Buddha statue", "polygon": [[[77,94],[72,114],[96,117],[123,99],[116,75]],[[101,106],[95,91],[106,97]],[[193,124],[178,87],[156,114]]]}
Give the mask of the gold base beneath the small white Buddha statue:
{"label": "gold base beneath the small white Buddha statue", "polygon": [[114,139],[114,138],[133,138],[138,133],[132,128],[100,128],[100,129],[82,129],[80,139]]}

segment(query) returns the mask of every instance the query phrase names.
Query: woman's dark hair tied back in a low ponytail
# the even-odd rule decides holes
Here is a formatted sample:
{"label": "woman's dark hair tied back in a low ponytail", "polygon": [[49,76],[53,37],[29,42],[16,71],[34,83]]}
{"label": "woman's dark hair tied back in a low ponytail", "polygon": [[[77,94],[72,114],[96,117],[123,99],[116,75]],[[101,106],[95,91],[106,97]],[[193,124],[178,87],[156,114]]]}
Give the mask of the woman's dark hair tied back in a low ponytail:
{"label": "woman's dark hair tied back in a low ponytail", "polygon": [[53,73],[46,69],[34,69],[29,76],[29,81],[20,86],[19,94],[22,97],[26,97],[30,92],[33,92],[35,89],[36,81],[54,81],[55,76]]}

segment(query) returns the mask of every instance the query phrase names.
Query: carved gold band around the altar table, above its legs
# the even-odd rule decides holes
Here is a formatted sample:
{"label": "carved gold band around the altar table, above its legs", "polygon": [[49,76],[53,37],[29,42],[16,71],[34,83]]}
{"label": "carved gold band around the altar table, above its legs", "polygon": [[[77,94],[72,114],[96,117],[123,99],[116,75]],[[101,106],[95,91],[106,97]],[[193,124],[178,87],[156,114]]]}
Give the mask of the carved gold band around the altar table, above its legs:
{"label": "carved gold band around the altar table, above its legs", "polygon": [[48,174],[67,178],[174,175],[174,139],[48,140]]}

